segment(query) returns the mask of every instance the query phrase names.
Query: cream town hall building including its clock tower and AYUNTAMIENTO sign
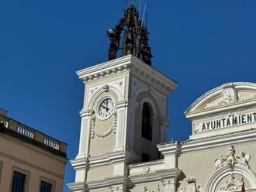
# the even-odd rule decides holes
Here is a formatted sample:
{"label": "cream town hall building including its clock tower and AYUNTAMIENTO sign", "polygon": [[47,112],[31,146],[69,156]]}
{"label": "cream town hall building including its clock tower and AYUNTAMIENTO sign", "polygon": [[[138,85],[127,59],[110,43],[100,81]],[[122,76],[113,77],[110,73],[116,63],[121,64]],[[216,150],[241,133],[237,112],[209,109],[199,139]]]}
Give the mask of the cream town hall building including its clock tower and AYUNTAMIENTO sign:
{"label": "cream town hall building including its clock tower and AYUNTAMIENTO sign", "polygon": [[86,86],[69,189],[256,191],[256,84],[227,83],[203,94],[185,111],[189,140],[167,142],[168,94],[178,84],[151,67],[138,15],[130,5],[108,30],[108,62],[77,72]]}

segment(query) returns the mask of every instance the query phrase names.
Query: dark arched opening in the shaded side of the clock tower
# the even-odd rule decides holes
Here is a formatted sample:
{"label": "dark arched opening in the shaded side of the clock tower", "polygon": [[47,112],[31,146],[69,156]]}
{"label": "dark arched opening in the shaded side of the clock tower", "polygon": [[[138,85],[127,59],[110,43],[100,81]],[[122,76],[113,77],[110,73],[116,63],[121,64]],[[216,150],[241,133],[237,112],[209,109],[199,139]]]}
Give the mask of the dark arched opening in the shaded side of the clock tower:
{"label": "dark arched opening in the shaded side of the clock tower", "polygon": [[150,105],[144,103],[142,108],[142,124],[141,124],[141,136],[145,139],[152,140],[152,112]]}

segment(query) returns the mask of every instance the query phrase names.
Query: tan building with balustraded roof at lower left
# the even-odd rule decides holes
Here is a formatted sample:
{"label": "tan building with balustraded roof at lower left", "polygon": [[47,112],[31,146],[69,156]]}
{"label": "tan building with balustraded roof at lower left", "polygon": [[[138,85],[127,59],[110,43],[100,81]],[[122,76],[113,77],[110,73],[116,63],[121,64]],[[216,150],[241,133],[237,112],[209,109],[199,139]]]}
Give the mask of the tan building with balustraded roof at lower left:
{"label": "tan building with balustraded roof at lower left", "polygon": [[0,110],[0,191],[63,191],[67,144]]}

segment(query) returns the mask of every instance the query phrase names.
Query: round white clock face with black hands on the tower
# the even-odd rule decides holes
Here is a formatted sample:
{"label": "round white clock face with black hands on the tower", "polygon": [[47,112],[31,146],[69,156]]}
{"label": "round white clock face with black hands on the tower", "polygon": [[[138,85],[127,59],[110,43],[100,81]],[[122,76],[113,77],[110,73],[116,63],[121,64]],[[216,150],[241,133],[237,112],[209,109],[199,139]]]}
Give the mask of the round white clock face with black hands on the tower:
{"label": "round white clock face with black hands on the tower", "polygon": [[114,101],[111,98],[104,99],[99,105],[99,116],[101,118],[108,118],[112,115],[112,112],[115,109]]}

